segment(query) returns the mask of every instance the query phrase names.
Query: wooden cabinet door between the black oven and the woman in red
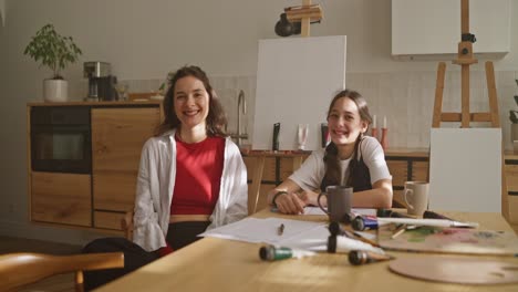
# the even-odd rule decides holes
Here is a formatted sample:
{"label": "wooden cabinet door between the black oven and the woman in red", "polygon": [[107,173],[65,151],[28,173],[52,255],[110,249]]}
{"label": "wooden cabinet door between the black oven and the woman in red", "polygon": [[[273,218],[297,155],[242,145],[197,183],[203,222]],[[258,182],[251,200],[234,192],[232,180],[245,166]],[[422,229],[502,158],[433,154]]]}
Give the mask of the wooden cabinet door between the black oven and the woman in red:
{"label": "wooden cabinet door between the black oven and the woman in red", "polygon": [[133,209],[142,146],[159,123],[159,107],[92,108],[95,210]]}

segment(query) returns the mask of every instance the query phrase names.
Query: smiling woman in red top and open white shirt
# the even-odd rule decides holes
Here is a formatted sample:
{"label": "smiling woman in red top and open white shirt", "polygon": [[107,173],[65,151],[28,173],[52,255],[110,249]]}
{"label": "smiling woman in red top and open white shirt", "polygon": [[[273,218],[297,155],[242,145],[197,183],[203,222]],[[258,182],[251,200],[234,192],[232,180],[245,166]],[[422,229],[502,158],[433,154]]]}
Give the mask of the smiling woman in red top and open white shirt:
{"label": "smiling woman in red top and open white shirt", "polygon": [[100,239],[84,252],[124,251],[124,269],[85,273],[93,289],[245,218],[247,170],[226,135],[225,112],[206,73],[176,71],[164,98],[165,119],[141,155],[133,242]]}

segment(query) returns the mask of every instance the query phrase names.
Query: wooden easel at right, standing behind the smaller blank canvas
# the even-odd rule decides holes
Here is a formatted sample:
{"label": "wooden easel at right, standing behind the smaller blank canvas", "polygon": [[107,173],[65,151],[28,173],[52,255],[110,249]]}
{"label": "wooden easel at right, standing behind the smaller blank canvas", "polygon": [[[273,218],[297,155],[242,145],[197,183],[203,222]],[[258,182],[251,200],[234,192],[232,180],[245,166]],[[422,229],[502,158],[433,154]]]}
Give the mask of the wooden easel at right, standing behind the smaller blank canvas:
{"label": "wooden easel at right, standing behind the smaller blank canvas", "polygon": [[[500,127],[498,101],[495,83],[495,70],[493,62],[486,62],[486,81],[489,98],[489,112],[470,113],[469,112],[469,65],[477,63],[473,55],[473,43],[476,41],[475,35],[469,33],[469,0],[460,0],[460,29],[462,40],[458,43],[457,60],[453,63],[460,65],[460,93],[462,93],[462,112],[460,113],[443,113],[443,92],[444,76],[446,63],[439,62],[437,67],[437,82],[435,87],[435,103],[432,127],[441,127],[441,122],[460,122],[460,127],[469,127],[470,122],[489,122],[491,127]],[[505,160],[504,150],[501,155],[501,213],[505,218],[509,218],[507,187],[505,177]]]}

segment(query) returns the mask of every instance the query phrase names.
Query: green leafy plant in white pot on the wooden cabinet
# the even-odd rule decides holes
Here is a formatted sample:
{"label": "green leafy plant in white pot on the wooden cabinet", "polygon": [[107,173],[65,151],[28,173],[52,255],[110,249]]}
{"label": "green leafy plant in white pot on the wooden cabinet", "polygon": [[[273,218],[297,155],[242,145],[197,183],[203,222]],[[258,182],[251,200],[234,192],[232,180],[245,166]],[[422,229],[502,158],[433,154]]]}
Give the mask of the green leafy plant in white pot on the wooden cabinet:
{"label": "green leafy plant in white pot on the wooden cabinet", "polygon": [[43,81],[43,100],[48,102],[64,102],[68,98],[68,82],[61,71],[69,64],[77,61],[82,54],[72,36],[63,36],[54,30],[54,25],[46,24],[39,30],[35,36],[23,51],[24,55],[40,62],[53,72],[52,79]]}

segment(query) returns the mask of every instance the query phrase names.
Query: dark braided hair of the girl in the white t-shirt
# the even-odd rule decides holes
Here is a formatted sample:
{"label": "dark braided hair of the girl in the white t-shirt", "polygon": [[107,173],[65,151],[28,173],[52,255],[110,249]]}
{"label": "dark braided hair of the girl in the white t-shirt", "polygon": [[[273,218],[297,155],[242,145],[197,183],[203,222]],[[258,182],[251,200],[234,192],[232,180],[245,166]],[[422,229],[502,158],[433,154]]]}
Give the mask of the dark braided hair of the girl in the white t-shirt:
{"label": "dark braided hair of the girl in the white t-shirt", "polygon": [[[372,123],[372,117],[371,117],[371,114],[369,113],[369,107],[367,107],[365,98],[363,98],[363,96],[360,93],[355,91],[350,91],[350,90],[341,91],[336,93],[336,95],[334,95],[333,100],[331,101],[331,104],[329,105],[328,118],[336,101],[343,97],[350,98],[356,104],[361,121],[367,122],[367,125]],[[360,148],[359,145],[362,138],[363,138],[363,134],[360,134],[356,138],[356,142],[354,144],[354,154],[353,154],[351,161],[358,159],[358,150]],[[340,171],[340,158],[338,156],[338,147],[333,142],[331,142],[328,145],[328,147],[325,147],[325,155],[323,157],[323,160],[325,165],[325,175],[322,179],[322,184],[320,185],[320,189],[322,191],[325,191],[325,187],[341,185],[341,181],[342,181],[341,179],[342,174]],[[349,175],[349,180],[346,181],[348,186],[352,185],[351,178],[353,177],[355,165],[356,164],[354,163],[350,164],[350,171],[349,171],[350,175]]]}

